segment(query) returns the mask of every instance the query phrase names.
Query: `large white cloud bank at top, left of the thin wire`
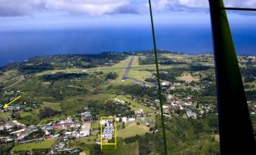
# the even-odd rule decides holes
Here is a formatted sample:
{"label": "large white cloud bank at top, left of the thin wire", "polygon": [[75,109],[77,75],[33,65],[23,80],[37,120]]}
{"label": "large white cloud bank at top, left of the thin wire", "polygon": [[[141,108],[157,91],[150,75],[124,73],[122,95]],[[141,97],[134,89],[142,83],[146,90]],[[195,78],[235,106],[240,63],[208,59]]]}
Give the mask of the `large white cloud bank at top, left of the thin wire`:
{"label": "large white cloud bank at top, left of the thin wire", "polygon": [[0,16],[25,16],[40,10],[93,16],[130,13],[130,11],[138,13],[139,9],[131,2],[131,0],[0,0]]}

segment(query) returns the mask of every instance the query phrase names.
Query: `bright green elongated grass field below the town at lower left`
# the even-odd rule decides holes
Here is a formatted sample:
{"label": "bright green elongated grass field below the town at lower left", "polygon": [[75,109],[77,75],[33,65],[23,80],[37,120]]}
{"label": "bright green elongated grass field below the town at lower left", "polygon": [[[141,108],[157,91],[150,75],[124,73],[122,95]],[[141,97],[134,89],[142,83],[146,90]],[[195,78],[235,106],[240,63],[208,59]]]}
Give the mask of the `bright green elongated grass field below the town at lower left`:
{"label": "bright green elongated grass field below the town at lower left", "polygon": [[26,144],[18,144],[11,149],[12,151],[21,151],[21,150],[37,150],[37,149],[48,149],[57,141],[57,139],[50,139],[39,142],[32,142]]}

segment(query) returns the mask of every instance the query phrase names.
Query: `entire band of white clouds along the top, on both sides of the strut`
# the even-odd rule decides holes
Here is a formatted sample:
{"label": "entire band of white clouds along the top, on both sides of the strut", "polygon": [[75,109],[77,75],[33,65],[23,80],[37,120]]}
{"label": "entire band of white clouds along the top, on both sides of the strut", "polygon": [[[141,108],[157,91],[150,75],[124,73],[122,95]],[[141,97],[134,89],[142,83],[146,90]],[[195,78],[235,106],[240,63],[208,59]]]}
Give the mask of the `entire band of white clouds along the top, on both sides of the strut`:
{"label": "entire band of white clouds along the top, on both sides of the strut", "polygon": [[[256,0],[224,0],[229,7],[256,8]],[[208,0],[152,0],[154,11],[200,11]],[[144,14],[147,0],[0,0],[0,16],[26,16],[38,11],[64,11],[69,14]]]}

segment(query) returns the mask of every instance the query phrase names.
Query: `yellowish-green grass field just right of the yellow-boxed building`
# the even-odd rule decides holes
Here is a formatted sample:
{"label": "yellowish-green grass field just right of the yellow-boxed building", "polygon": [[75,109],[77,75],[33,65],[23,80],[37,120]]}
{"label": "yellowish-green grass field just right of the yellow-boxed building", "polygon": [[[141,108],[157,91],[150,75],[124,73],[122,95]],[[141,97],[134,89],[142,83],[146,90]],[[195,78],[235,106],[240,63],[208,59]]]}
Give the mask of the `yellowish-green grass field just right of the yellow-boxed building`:
{"label": "yellowish-green grass field just right of the yellow-boxed building", "polygon": [[119,129],[117,131],[117,136],[128,138],[134,135],[144,135],[146,132],[150,132],[150,128],[144,124],[137,125],[136,123],[127,123],[125,129]]}

